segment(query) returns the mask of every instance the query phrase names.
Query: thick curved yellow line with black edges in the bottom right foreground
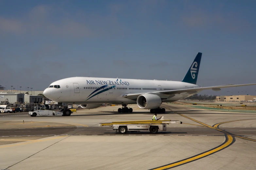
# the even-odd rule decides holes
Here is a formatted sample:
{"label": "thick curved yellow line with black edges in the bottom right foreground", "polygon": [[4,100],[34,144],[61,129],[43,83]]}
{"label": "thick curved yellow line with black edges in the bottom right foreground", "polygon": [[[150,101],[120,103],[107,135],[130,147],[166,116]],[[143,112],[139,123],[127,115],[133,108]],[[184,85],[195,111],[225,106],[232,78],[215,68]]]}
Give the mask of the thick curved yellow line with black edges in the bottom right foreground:
{"label": "thick curved yellow line with black edges in the bottom right foreground", "polygon": [[221,149],[224,149],[224,148],[228,147],[233,142],[233,137],[231,135],[227,135],[227,137],[228,137],[227,142],[225,142],[223,145],[221,145],[221,146],[219,146],[219,147],[217,147],[213,150],[209,150],[209,151],[207,151],[205,153],[202,153],[200,155],[193,156],[193,157],[191,157],[189,159],[186,159],[184,161],[180,161],[180,162],[172,163],[170,165],[166,165],[166,166],[163,166],[163,167],[160,167],[160,168],[156,168],[155,170],[162,170],[162,169],[172,168],[174,166],[178,166],[178,165],[181,165],[181,164],[184,164],[184,163],[189,163],[191,161],[195,161],[195,160],[200,159],[202,157],[205,157],[207,155],[213,154],[213,153],[215,153],[215,152],[217,152]]}

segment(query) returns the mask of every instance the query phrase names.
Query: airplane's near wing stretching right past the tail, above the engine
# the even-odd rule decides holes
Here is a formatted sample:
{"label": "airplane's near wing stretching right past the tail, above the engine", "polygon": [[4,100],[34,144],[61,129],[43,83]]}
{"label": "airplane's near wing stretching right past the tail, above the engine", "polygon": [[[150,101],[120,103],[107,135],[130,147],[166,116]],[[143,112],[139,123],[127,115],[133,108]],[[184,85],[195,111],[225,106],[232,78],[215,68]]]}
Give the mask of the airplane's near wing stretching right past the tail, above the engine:
{"label": "airplane's near wing stretching right past the tail, above the engine", "polygon": [[173,94],[179,94],[179,93],[183,93],[183,92],[197,93],[202,90],[209,90],[209,89],[212,89],[214,91],[220,91],[221,88],[250,86],[250,85],[256,85],[256,83],[253,83],[253,84],[226,84],[226,85],[220,85],[220,86],[200,87],[200,88],[191,88],[191,89],[164,90],[164,91],[157,91],[157,92],[142,92],[142,93],[128,93],[128,94],[124,94],[123,97],[134,100],[135,98],[137,99],[137,97],[139,95],[145,94],[145,93],[173,95]]}

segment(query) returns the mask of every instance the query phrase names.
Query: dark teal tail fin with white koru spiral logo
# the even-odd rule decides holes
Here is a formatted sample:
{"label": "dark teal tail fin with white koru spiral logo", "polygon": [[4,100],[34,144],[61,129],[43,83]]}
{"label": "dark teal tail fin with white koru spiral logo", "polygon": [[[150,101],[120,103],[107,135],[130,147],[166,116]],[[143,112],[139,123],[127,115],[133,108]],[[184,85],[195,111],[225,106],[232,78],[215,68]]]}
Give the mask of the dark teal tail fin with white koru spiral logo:
{"label": "dark teal tail fin with white koru spiral logo", "polygon": [[202,53],[198,52],[182,82],[196,84]]}

